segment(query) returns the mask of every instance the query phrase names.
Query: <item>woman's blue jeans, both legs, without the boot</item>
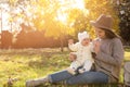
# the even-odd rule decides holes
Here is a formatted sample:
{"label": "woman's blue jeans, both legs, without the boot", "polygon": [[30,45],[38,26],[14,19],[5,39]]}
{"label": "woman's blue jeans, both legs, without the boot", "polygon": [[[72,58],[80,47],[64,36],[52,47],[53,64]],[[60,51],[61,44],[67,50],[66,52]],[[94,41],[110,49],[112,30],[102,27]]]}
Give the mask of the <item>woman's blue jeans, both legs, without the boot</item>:
{"label": "woman's blue jeans, both legs, without the boot", "polygon": [[108,75],[102,72],[84,72],[78,75],[72,75],[67,71],[61,71],[49,75],[51,83],[58,83],[65,80],[67,85],[79,84],[101,84],[108,83]]}

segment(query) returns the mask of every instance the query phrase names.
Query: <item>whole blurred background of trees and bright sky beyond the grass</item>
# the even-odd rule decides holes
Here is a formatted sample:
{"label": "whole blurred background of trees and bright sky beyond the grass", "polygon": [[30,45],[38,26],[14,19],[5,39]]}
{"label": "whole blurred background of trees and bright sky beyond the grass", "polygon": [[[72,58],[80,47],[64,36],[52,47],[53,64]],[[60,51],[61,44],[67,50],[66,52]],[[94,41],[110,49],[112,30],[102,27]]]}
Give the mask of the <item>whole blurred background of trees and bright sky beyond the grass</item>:
{"label": "whole blurred background of trees and bright sky beyond the grass", "polygon": [[0,49],[57,48],[77,41],[100,14],[114,17],[114,32],[130,46],[130,0],[0,0]]}

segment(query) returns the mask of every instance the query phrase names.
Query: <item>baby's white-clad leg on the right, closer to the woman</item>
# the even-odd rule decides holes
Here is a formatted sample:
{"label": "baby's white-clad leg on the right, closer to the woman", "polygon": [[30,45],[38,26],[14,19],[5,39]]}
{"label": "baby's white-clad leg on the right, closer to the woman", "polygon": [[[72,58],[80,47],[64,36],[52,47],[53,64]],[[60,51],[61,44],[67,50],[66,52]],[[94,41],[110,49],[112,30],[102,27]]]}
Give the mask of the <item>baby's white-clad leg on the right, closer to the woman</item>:
{"label": "baby's white-clad leg on the right, closer to the woman", "polygon": [[79,70],[79,73],[83,73],[83,72],[90,71],[91,67],[92,67],[92,63],[93,62],[91,60],[84,61],[83,67]]}

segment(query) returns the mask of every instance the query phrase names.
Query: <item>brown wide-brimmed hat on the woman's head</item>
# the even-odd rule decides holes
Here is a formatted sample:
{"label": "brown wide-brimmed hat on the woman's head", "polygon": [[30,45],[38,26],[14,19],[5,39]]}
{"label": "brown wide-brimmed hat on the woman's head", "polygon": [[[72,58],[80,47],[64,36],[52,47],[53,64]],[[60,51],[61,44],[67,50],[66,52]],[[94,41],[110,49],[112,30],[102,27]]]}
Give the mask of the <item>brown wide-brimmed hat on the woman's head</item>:
{"label": "brown wide-brimmed hat on the woman's head", "polygon": [[105,28],[112,30],[113,18],[110,15],[101,14],[96,21],[90,21],[90,24],[94,27]]}

